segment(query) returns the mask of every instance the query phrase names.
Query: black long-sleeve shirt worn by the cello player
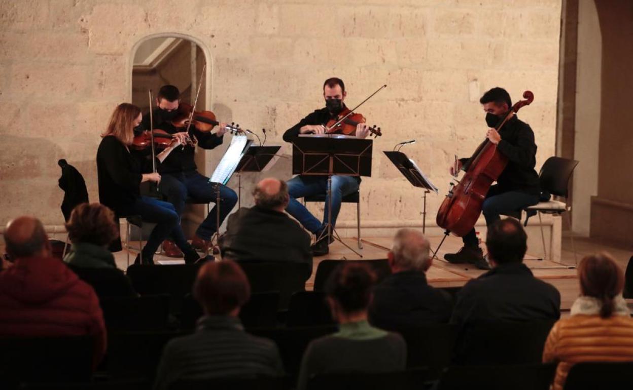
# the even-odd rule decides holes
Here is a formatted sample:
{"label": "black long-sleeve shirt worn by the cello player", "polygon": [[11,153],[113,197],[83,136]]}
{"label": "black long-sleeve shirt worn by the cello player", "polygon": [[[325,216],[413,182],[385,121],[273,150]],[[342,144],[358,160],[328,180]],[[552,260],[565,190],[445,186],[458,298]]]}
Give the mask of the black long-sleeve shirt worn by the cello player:
{"label": "black long-sleeve shirt worn by the cello player", "polygon": [[[539,175],[534,170],[537,149],[534,131],[515,115],[499,130],[499,135],[501,141],[497,149],[508,157],[508,164],[497,179],[498,185],[504,192],[520,191],[538,195],[541,190]],[[463,163],[468,161],[460,160]]]}

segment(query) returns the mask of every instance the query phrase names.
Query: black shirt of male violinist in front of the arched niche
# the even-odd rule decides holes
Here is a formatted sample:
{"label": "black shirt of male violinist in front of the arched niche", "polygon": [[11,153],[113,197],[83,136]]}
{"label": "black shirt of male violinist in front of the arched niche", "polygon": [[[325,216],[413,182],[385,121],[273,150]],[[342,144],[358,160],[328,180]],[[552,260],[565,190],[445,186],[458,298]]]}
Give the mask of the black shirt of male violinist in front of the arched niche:
{"label": "black shirt of male violinist in front of the arched niche", "polygon": [[[184,131],[173,126],[170,121],[163,121],[160,109],[154,109],[153,116],[154,130],[165,130],[170,134]],[[149,130],[149,113],[143,116],[140,128],[141,130]],[[222,143],[223,137],[218,137],[211,133],[203,133],[196,130],[194,126],[191,126],[191,133],[196,137],[197,145],[202,149],[213,149]],[[196,150],[193,146],[184,145],[184,147],[177,147],[170,152],[163,162],[158,163],[156,169],[158,169],[160,174],[197,171],[196,162],[194,161],[195,152]]]}

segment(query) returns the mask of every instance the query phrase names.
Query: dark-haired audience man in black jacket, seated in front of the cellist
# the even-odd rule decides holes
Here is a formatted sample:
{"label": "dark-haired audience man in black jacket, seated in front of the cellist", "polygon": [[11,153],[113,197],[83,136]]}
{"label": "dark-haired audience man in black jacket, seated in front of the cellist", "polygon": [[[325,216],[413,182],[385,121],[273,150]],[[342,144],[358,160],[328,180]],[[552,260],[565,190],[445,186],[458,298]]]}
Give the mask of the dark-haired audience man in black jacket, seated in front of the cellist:
{"label": "dark-haired audience man in black jacket, seated in front of the cellist", "polygon": [[[456,359],[468,350],[473,326],[491,322],[555,321],[560,318],[560,293],[534,277],[523,264],[527,235],[516,219],[488,227],[488,259],[492,269],[470,280],[457,294],[451,322],[460,328]],[[517,334],[517,337],[520,337]],[[471,351],[472,352],[472,351]],[[469,356],[472,356],[469,353]],[[503,360],[503,356],[499,356]]]}

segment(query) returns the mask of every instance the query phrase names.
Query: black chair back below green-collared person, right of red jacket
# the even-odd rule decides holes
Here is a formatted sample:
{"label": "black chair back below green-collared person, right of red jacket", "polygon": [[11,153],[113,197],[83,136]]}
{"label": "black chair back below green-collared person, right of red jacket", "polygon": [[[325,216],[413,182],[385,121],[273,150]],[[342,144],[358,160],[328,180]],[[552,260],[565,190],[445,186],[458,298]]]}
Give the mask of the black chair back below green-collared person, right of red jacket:
{"label": "black chair back below green-collared person, right of red jacket", "polygon": [[101,300],[108,331],[163,331],[168,327],[170,296],[117,296]]}

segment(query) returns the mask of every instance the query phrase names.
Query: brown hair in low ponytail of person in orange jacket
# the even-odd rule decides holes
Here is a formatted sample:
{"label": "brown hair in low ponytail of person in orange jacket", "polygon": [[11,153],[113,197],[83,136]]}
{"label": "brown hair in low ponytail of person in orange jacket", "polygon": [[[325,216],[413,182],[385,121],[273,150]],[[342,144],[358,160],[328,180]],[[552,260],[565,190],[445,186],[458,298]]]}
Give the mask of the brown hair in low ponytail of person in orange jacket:
{"label": "brown hair in low ponytail of person in orange jacket", "polygon": [[600,317],[613,315],[613,299],[622,293],[624,273],[608,253],[588,255],[580,260],[578,267],[582,295],[597,298],[602,302]]}

